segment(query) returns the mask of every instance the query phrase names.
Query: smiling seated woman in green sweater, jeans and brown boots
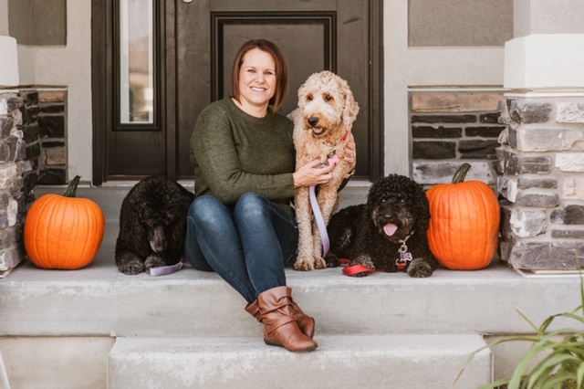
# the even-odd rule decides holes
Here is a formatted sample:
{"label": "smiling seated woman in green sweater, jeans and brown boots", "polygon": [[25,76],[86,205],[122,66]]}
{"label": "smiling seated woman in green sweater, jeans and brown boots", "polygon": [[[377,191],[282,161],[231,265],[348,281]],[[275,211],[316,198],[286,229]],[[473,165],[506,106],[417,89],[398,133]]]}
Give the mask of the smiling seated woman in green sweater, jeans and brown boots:
{"label": "smiling seated woman in green sweater, jeans and brown boots", "polygon": [[[294,188],[327,183],[319,160],[295,171],[293,123],[276,113],[287,95],[287,63],[275,44],[246,42],[235,56],[233,96],[207,106],[191,137],[196,198],[185,254],[215,271],[265,325],[266,344],[292,352],[318,347],[314,319],[292,300],[285,264],[297,249]],[[272,106],[272,107],[270,107]],[[354,142],[344,159],[354,165]]]}

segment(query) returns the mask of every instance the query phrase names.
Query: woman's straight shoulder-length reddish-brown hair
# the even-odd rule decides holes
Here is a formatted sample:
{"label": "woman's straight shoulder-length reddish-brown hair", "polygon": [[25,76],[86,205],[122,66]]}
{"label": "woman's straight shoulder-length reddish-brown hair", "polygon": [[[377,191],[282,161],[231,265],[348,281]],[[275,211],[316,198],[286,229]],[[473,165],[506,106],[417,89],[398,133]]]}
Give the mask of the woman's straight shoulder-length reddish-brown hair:
{"label": "woman's straight shoulder-length reddish-brown hair", "polygon": [[266,39],[254,39],[244,43],[239,48],[234,60],[234,68],[231,74],[231,94],[235,100],[239,101],[239,70],[244,63],[245,54],[253,49],[259,48],[270,54],[276,64],[276,92],[269,103],[272,110],[276,112],[282,106],[288,93],[288,66],[286,58],[279,47]]}

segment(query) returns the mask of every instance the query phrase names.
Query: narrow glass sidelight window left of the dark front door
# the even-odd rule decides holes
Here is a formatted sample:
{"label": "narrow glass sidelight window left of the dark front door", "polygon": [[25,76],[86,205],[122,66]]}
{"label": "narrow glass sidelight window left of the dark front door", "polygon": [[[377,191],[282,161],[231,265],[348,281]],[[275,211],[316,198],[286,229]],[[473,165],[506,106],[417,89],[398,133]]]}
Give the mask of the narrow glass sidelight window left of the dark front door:
{"label": "narrow glass sidelight window left of the dark front door", "polygon": [[[120,130],[145,130],[156,122],[155,0],[117,2],[117,94]],[[130,126],[128,126],[130,125]]]}

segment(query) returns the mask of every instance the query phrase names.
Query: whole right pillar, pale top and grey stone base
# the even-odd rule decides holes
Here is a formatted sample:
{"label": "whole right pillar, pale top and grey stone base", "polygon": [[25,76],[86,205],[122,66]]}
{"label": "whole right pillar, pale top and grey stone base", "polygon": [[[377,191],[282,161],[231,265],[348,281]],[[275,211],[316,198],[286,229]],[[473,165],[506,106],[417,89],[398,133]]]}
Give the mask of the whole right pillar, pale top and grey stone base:
{"label": "whole right pillar, pale top and grey stone base", "polygon": [[514,268],[584,266],[584,7],[514,2],[497,151],[501,258]]}

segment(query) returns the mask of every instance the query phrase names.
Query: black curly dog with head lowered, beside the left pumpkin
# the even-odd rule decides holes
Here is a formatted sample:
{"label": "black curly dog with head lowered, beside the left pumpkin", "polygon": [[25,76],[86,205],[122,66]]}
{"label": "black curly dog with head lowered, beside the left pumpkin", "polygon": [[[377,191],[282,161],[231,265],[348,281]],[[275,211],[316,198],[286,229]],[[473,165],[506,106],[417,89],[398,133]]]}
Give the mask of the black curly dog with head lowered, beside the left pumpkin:
{"label": "black curly dog with head lowered, beside the left pumpkin", "polygon": [[129,276],[174,265],[184,257],[186,215],[194,195],[164,177],[146,177],[121,203],[115,258]]}

